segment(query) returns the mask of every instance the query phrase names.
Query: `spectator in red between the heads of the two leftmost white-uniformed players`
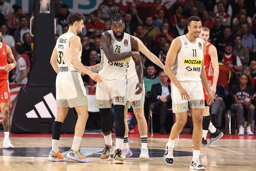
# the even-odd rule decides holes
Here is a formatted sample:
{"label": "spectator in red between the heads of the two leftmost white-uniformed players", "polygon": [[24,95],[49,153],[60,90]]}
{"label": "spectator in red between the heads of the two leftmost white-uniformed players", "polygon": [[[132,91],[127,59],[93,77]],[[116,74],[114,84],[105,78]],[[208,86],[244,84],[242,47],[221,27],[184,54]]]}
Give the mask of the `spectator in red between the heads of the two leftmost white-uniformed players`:
{"label": "spectator in red between the heads of the two leftmost white-uniformed players", "polygon": [[104,28],[104,23],[98,21],[97,12],[92,12],[89,15],[89,22],[85,24],[85,27],[87,29],[87,35],[91,35],[95,28],[102,30]]}

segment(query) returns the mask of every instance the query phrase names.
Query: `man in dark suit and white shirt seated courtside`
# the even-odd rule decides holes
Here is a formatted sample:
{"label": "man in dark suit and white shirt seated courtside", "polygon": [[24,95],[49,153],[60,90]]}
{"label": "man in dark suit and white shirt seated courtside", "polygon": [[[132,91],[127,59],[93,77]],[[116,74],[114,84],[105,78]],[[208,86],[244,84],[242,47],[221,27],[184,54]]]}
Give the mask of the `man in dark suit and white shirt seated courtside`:
{"label": "man in dark suit and white shirt seated courtside", "polygon": [[167,108],[172,107],[171,86],[167,83],[168,75],[160,71],[159,78],[161,83],[153,84],[151,88],[151,110],[159,111],[160,113],[160,133],[166,134],[165,117]]}

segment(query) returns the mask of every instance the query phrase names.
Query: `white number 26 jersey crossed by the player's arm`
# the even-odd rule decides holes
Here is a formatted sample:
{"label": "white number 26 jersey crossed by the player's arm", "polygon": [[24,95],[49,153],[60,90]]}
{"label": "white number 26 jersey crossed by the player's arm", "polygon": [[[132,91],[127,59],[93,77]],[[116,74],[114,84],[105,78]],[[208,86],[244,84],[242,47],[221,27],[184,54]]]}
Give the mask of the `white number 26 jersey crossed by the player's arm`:
{"label": "white number 26 jersey crossed by the player's arm", "polygon": [[[113,30],[108,30],[111,35],[111,44],[115,53],[131,51],[130,34],[124,33],[122,41],[117,41],[114,37]],[[101,49],[101,68],[99,75],[106,80],[116,80],[123,75],[127,75],[127,66],[129,58],[117,62],[109,62],[103,49]]]}

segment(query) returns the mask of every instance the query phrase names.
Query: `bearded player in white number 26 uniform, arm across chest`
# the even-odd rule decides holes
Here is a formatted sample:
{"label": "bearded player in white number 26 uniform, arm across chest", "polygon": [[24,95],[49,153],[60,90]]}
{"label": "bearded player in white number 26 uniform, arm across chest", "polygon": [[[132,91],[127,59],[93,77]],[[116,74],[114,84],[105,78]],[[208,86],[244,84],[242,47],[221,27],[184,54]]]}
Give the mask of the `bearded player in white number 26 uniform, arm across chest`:
{"label": "bearded player in white number 26 uniform, arm across chest", "polygon": [[[130,57],[136,65],[139,83],[136,84],[136,95],[142,92],[143,66],[137,40],[124,33],[123,18],[117,14],[118,10],[110,9],[111,30],[101,35],[101,68],[99,75],[102,82],[96,86],[96,106],[101,113],[101,128],[105,139],[105,148],[100,160],[109,160],[114,151],[114,163],[124,163],[122,158],[123,137],[125,134],[124,108],[127,91],[127,66]],[[116,148],[113,147],[111,137],[110,109],[114,104],[116,121]]]}

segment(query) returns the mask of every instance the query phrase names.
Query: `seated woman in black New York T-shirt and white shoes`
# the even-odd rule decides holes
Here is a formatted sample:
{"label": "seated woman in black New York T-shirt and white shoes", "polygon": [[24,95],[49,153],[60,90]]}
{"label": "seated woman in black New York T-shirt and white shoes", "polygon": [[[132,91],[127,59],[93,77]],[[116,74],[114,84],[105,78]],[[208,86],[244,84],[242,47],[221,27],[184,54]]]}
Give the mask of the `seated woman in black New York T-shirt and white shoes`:
{"label": "seated woman in black New York T-shirt and white shoes", "polygon": [[253,87],[247,85],[249,77],[245,74],[242,74],[240,77],[240,84],[232,86],[231,93],[235,104],[232,104],[230,109],[237,112],[238,115],[238,135],[244,135],[244,109],[247,110],[248,126],[247,126],[247,135],[253,135],[251,132],[251,126],[254,117],[254,105],[251,104],[251,99],[253,97]]}

